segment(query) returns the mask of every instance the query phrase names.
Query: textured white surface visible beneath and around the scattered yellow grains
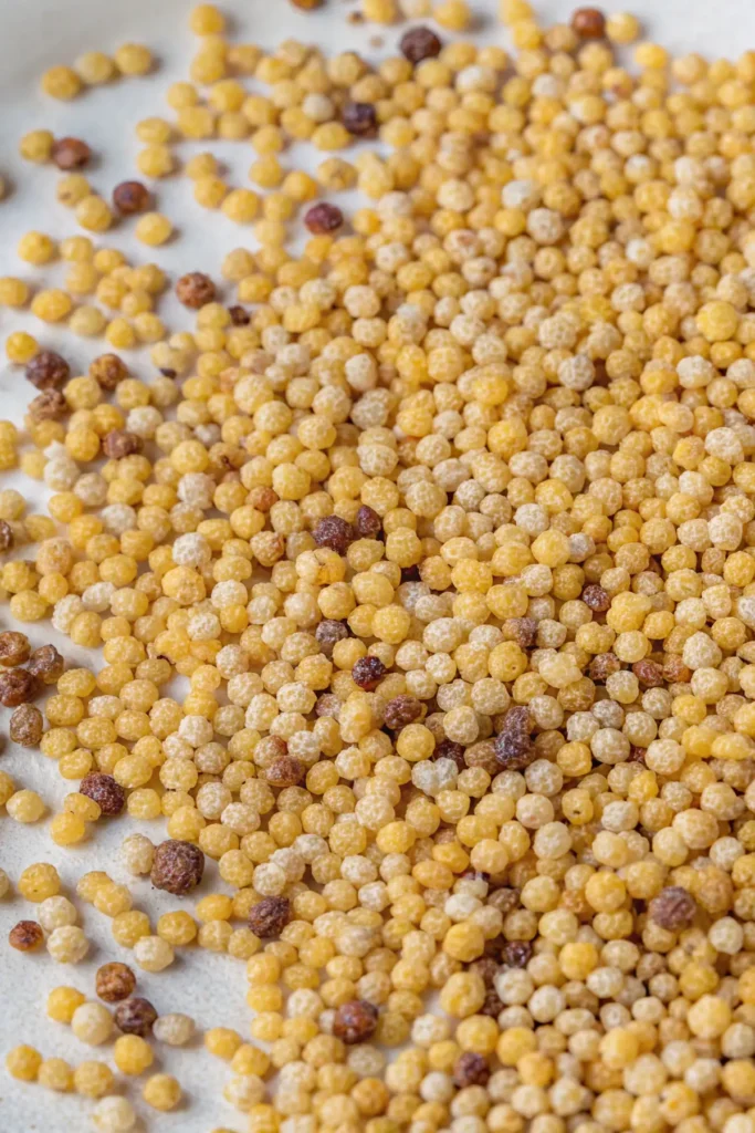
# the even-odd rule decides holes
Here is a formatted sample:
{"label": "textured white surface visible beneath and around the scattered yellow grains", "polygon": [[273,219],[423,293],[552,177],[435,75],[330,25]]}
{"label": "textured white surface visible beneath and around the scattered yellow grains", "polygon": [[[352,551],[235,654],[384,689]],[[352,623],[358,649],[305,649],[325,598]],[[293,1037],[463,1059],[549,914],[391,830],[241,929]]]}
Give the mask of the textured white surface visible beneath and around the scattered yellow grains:
{"label": "textured white surface visible beneath and around the scattered yellow grains", "polygon": [[[254,41],[274,46],[286,36],[306,42],[317,42],[329,50],[352,48],[368,59],[377,59],[391,51],[398,37],[397,28],[354,27],[345,20],[353,10],[353,2],[329,0],[326,8],[307,15],[292,9],[286,0],[230,0],[224,10],[238,17],[234,31],[241,41]],[[506,43],[503,28],[495,20],[496,0],[473,0],[479,14],[480,41]],[[574,7],[565,0],[547,0],[539,5],[546,18],[566,18]],[[621,10],[628,2],[602,5],[606,10]],[[646,32],[657,42],[675,52],[700,51],[706,56],[736,56],[755,45],[755,6],[750,0],[641,0],[633,10],[646,17]],[[76,225],[71,214],[54,201],[55,172],[52,168],[24,165],[16,156],[17,139],[22,133],[48,127],[57,134],[72,134],[87,139],[97,154],[91,179],[94,186],[108,194],[110,188],[127,176],[134,176],[134,155],[137,142],[132,126],[141,117],[161,112],[162,94],[170,82],[186,76],[192,51],[192,36],[187,28],[190,6],[182,0],[0,0],[0,105],[2,120],[0,134],[0,171],[14,185],[9,199],[0,204],[0,273],[22,274],[33,279],[41,273],[19,264],[15,257],[18,235],[37,228],[57,238],[71,235]],[[379,35],[383,48],[370,44]],[[128,79],[110,87],[98,88],[70,104],[44,99],[37,88],[37,77],[48,66],[71,62],[83,51],[102,49],[112,51],[126,41],[148,43],[161,60],[156,73],[147,79]],[[181,147],[179,147],[181,148]],[[251,151],[244,144],[208,143],[195,145],[212,148],[228,157],[233,170],[232,182],[243,185]],[[183,147],[183,153],[190,148]],[[297,152],[298,163],[312,164],[312,154]],[[221,215],[201,212],[191,199],[190,182],[177,178],[158,185],[160,207],[180,227],[181,239],[157,249],[154,258],[180,273],[198,267],[217,278],[222,257],[231,248],[244,242],[244,231]],[[109,233],[108,244],[135,250],[123,230]],[[149,249],[141,248],[135,262],[153,258]],[[60,279],[61,269],[50,273]],[[174,308],[172,308],[174,313]],[[0,338],[15,329],[31,325],[12,313],[0,313]],[[173,324],[174,325],[174,324]],[[41,335],[48,344],[60,342],[76,367],[85,367],[101,343],[74,340],[65,332]],[[1,415],[20,421],[29,390],[18,370],[0,365]],[[3,480],[3,486],[9,482]],[[18,485],[20,486],[20,484]],[[28,482],[24,485],[28,493]],[[0,628],[9,628],[7,610],[0,611]],[[43,627],[33,628],[35,644],[54,639]],[[87,658],[79,650],[70,649],[67,656],[78,663],[96,665],[97,658]],[[0,723],[5,732],[6,719]],[[75,784],[65,784],[54,767],[38,752],[6,749],[1,766],[17,778],[19,785],[37,790],[52,809],[58,809],[62,795]],[[121,868],[117,847],[120,840],[136,829],[128,819],[111,824],[101,823],[95,838],[80,847],[61,850],[46,834],[46,821],[33,827],[0,819],[0,864],[11,879],[33,861],[52,861],[59,868],[65,892],[72,893],[81,872],[106,869],[119,881],[128,880]],[[153,841],[164,836],[162,821],[141,824],[144,833]],[[208,863],[208,878],[201,892],[212,885],[214,868]],[[148,911],[153,923],[160,912],[175,908],[179,902],[152,889],[147,879],[132,881],[135,905]],[[38,1047],[45,1057],[65,1057],[74,1064],[92,1057],[106,1057],[109,1048],[92,1049],[79,1043],[68,1028],[49,1021],[44,1013],[48,991],[58,983],[69,983],[93,996],[94,972],[109,960],[129,961],[129,953],[115,945],[110,936],[110,923],[91,906],[79,904],[81,923],[93,942],[89,959],[76,968],[55,964],[42,951],[23,956],[6,945],[9,928],[22,918],[33,918],[34,906],[18,896],[0,902],[0,1057],[19,1041]],[[192,903],[187,902],[187,908]],[[161,976],[141,976],[139,994],[147,996],[161,1013],[182,1011],[194,1015],[201,1028],[226,1025],[248,1036],[249,1012],[244,1005],[246,981],[243,964],[228,956],[213,955],[198,949],[183,949],[173,968]],[[157,1047],[157,1045],[156,1045]],[[246,1118],[220,1100],[220,1090],[226,1068],[211,1058],[200,1040],[194,1046],[173,1051],[157,1047],[155,1070],[175,1073],[181,1081],[190,1105],[175,1114],[156,1115],[137,1099],[145,1126],[181,1133],[207,1133],[223,1125],[234,1130],[246,1128]],[[144,1079],[139,1080],[139,1083]],[[129,1096],[138,1090],[132,1083]],[[89,1127],[91,1102],[77,1097],[60,1097],[37,1085],[11,1081],[0,1071],[0,1130],[3,1133],[70,1133]]]}

